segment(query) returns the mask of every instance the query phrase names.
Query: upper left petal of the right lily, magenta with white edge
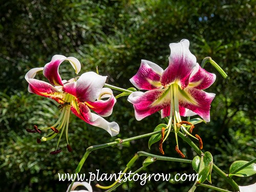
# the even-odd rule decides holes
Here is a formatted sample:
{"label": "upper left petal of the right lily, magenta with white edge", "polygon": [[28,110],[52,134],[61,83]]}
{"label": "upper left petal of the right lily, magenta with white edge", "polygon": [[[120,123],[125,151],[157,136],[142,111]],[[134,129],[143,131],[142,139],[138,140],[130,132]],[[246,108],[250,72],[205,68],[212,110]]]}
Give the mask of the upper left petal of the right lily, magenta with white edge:
{"label": "upper left petal of the right lily, magenta with white edge", "polygon": [[133,85],[142,90],[153,90],[162,87],[160,76],[163,69],[151,61],[141,60],[141,65],[130,81]]}

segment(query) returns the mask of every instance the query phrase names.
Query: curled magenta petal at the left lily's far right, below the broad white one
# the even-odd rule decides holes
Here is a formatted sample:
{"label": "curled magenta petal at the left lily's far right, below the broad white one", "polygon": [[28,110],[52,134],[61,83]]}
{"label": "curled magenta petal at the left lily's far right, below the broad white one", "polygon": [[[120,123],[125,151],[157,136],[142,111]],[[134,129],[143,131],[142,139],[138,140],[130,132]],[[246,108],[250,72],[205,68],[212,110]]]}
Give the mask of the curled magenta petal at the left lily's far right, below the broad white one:
{"label": "curled magenta petal at the left lily's far right, below the broad white one", "polygon": [[[107,100],[101,100],[102,98],[108,98]],[[112,114],[113,107],[116,103],[116,98],[113,92],[109,88],[102,88],[100,97],[97,101],[87,101],[88,107],[95,111],[102,117],[108,117]]]}

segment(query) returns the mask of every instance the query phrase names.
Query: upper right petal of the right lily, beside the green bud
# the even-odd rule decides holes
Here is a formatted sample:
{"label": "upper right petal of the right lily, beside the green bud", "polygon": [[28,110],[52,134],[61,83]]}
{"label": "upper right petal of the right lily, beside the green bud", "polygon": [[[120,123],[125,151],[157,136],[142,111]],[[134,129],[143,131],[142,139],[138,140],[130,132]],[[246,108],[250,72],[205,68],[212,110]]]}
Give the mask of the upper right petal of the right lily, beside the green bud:
{"label": "upper right petal of the right lily, beside the green bud", "polygon": [[192,72],[191,77],[189,78],[189,87],[203,90],[210,87],[215,79],[215,74],[205,71],[197,63],[197,68]]}

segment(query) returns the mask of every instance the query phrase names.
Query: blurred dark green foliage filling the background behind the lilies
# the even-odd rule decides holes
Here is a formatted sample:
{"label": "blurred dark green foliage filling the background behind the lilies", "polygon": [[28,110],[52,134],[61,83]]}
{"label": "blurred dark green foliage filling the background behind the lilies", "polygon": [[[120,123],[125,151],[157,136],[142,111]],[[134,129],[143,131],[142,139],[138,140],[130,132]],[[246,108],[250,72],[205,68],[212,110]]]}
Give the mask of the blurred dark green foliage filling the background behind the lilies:
{"label": "blurred dark green foliage filling the background behind the lilies", "polygon": [[[36,143],[37,134],[25,130],[34,124],[53,124],[59,111],[54,102],[27,92],[26,72],[43,67],[54,54],[75,56],[82,72],[108,75],[108,83],[132,87],[129,79],[141,59],[168,65],[170,42],[190,40],[190,50],[198,62],[212,57],[228,74],[217,74],[207,92],[216,93],[211,106],[211,122],[196,126],[204,150],[224,172],[233,161],[251,160],[255,153],[255,2],[235,1],[43,1],[10,0],[0,4],[0,189],[1,191],[66,191],[69,182],[58,181],[57,173],[73,173],[86,148],[111,142],[108,133],[71,116],[69,138],[73,152],[63,150],[51,156],[57,139]],[[73,76],[69,65],[61,65],[64,77]],[[64,78],[65,79],[65,78]],[[119,94],[115,92],[115,94]],[[127,138],[152,132],[163,122],[158,114],[140,122],[126,98],[119,98],[109,120],[120,125],[118,137]],[[39,136],[38,136],[39,137]],[[65,148],[62,139],[60,147]],[[148,138],[116,145],[90,154],[81,173],[100,169],[119,173],[137,151],[159,154],[147,148]],[[180,141],[181,149],[193,159],[194,152]],[[166,156],[178,157],[174,135],[164,143]],[[136,168],[141,166],[139,159]],[[194,173],[190,165],[155,162],[147,173]],[[251,184],[253,177],[237,179]],[[212,173],[212,182],[230,189]],[[92,183],[93,185],[96,183]],[[110,182],[100,183],[103,185]],[[193,183],[125,183],[117,191],[187,191]],[[100,191],[95,189],[95,191]],[[206,191],[198,188],[197,191]],[[208,190],[211,191],[211,190]]]}

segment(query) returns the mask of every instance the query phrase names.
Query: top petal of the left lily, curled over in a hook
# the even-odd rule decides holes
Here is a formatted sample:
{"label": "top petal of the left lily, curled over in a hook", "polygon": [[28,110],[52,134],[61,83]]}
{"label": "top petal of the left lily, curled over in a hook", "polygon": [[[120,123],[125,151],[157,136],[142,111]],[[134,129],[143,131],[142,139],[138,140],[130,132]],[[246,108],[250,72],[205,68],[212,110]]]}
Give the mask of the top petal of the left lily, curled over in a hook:
{"label": "top petal of the left lily, curled over in a hook", "polygon": [[62,79],[59,75],[59,66],[65,60],[68,60],[71,63],[76,74],[78,74],[81,69],[81,64],[77,58],[54,55],[52,60],[45,65],[43,72],[43,74],[48,78],[49,82],[54,86],[63,86]]}

